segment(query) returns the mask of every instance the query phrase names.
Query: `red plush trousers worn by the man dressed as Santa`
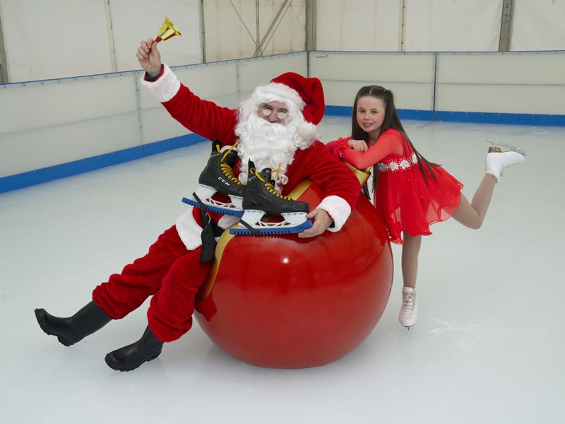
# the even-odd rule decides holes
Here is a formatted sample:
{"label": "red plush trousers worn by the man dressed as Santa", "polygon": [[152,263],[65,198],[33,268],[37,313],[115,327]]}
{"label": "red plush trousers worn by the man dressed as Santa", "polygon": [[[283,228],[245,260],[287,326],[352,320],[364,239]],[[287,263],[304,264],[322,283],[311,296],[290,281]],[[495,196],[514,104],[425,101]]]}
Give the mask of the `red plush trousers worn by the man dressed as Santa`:
{"label": "red plush trousers worn by the man dressed as Santa", "polygon": [[112,274],[93,291],[93,300],[108,317],[120,319],[153,295],[147,319],[160,341],[174,341],[192,326],[194,298],[206,280],[211,262],[200,261],[201,247],[188,250],[173,225],[148,254]]}

